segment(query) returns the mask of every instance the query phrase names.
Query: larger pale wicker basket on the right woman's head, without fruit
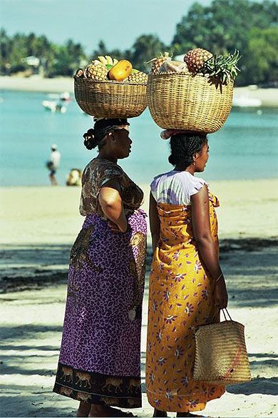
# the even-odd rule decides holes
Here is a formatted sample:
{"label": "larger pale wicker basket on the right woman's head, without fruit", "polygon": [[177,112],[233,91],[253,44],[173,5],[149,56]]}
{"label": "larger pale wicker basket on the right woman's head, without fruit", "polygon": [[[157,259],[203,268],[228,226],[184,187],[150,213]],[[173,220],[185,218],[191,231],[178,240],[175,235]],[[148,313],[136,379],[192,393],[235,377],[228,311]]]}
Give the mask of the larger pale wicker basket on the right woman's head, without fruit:
{"label": "larger pale wicker basket on the right woman's head, without fruit", "polygon": [[150,114],[160,128],[207,134],[225,123],[232,109],[233,81],[210,84],[207,76],[185,73],[150,74],[147,99]]}

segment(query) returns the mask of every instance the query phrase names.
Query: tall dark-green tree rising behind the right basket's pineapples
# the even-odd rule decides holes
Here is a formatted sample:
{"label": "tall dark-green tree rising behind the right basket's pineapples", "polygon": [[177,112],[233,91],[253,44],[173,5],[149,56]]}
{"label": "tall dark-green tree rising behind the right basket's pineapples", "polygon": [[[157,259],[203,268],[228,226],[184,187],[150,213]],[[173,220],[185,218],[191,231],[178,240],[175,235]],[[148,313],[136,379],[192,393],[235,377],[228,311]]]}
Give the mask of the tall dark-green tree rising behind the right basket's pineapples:
{"label": "tall dark-green tree rising behind the right basket's pineapples", "polygon": [[[258,55],[250,44],[252,30],[277,26],[277,16],[278,5],[269,0],[260,3],[249,0],[214,0],[207,7],[195,3],[187,16],[183,16],[177,24],[173,51],[175,54],[185,54],[189,49],[200,47],[213,54],[226,54],[239,49],[242,54],[242,72],[237,77],[237,84],[251,84],[254,81],[247,74],[254,74],[251,68],[254,64],[252,54]],[[267,71],[273,72],[272,65],[269,63]]]}

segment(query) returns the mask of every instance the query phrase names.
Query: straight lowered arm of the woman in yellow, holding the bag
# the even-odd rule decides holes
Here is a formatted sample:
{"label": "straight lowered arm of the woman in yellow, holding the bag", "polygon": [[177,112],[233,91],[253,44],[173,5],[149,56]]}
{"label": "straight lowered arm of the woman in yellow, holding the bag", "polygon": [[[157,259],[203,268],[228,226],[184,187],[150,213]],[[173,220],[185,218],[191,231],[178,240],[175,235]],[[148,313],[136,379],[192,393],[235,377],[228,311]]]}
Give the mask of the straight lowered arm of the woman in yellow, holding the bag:
{"label": "straight lowered arm of the woman in yellow, holding the bag", "polygon": [[227,290],[225,279],[218,261],[215,242],[210,231],[210,204],[207,186],[191,196],[192,227],[195,241],[205,267],[212,277],[217,280],[217,306],[227,307]]}

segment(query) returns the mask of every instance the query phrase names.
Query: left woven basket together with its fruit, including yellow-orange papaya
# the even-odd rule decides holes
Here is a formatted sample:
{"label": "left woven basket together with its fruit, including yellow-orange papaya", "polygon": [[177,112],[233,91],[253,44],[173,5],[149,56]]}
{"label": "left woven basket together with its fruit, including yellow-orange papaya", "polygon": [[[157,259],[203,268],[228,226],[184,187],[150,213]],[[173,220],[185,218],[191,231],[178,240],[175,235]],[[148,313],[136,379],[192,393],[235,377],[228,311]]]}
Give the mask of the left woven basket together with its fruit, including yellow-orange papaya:
{"label": "left woven basket together with its fruit, including yellow-orange papaya", "polygon": [[97,117],[131,118],[147,106],[147,74],[132,64],[110,56],[98,56],[74,76],[74,95],[87,114]]}

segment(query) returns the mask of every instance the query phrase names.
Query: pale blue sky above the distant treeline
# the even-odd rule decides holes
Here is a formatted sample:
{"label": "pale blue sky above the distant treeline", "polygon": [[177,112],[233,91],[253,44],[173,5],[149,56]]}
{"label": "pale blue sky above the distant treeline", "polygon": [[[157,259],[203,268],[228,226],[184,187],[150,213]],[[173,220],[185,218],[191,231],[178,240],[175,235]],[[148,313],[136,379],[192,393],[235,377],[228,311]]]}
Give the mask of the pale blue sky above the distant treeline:
{"label": "pale blue sky above the distant treeline", "polygon": [[[62,44],[71,38],[90,54],[103,39],[109,49],[129,49],[141,34],[170,44],[177,23],[195,0],[0,0],[1,27],[45,34]],[[211,0],[199,0],[207,6]]]}

